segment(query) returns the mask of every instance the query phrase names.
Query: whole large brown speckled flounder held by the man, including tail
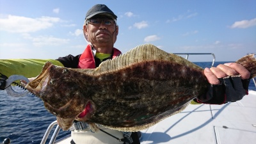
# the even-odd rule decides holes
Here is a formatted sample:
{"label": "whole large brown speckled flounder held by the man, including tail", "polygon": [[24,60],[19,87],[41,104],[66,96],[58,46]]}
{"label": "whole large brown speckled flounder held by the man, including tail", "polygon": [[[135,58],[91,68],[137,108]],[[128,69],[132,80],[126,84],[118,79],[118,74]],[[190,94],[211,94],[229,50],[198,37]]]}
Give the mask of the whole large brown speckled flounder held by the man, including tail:
{"label": "whole large brown speckled flounder held by the man, including tail", "polygon": [[[253,55],[240,59],[255,77]],[[252,68],[254,67],[254,72]],[[45,63],[26,88],[67,130],[76,120],[119,131],[140,131],[179,113],[207,91],[204,69],[154,45],[139,45],[93,69]]]}

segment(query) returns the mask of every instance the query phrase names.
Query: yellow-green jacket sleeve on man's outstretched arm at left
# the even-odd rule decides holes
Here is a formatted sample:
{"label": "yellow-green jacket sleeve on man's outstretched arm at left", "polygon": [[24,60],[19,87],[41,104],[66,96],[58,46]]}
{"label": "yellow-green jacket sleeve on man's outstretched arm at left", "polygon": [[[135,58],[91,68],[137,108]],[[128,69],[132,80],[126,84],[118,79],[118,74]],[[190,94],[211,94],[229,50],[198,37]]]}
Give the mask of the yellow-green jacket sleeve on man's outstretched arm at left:
{"label": "yellow-green jacket sleeve on man's outstretched arm at left", "polygon": [[36,77],[40,74],[45,62],[47,61],[50,61],[54,65],[63,67],[63,64],[57,60],[10,59],[0,60],[0,73],[7,77],[12,75]]}

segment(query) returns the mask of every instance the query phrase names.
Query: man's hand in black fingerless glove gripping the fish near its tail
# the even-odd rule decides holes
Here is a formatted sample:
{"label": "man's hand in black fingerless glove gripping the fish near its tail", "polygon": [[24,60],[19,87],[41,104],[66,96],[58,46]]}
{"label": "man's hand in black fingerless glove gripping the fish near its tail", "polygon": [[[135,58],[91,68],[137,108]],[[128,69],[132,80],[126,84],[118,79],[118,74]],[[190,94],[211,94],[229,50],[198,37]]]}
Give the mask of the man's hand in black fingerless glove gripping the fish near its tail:
{"label": "man's hand in black fingerless glove gripping the fish near its tail", "polygon": [[199,95],[196,102],[205,104],[224,104],[243,99],[248,94],[250,72],[238,63],[225,63],[217,67],[205,68],[207,93]]}

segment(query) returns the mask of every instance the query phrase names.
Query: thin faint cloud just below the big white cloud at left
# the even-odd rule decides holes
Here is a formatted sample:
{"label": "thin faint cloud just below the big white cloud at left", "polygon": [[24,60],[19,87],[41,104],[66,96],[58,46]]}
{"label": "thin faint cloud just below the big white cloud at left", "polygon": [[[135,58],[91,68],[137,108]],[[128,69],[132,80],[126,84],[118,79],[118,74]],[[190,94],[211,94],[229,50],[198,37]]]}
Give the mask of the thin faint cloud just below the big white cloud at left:
{"label": "thin faint cloud just below the big white cloud at left", "polygon": [[56,38],[54,36],[31,36],[28,33],[22,34],[25,39],[31,40],[33,45],[36,47],[41,47],[44,45],[63,45],[68,44],[69,39]]}

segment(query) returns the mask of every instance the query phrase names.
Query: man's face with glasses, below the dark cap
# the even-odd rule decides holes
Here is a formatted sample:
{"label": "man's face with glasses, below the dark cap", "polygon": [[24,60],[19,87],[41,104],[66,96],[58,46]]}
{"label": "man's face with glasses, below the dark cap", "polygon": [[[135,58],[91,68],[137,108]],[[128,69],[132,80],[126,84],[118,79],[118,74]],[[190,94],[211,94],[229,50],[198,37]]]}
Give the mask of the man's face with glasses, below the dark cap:
{"label": "man's face with glasses, below the dark cap", "polygon": [[84,26],[84,33],[93,45],[113,45],[116,42],[118,26],[109,17],[96,16],[89,20],[87,26]]}

